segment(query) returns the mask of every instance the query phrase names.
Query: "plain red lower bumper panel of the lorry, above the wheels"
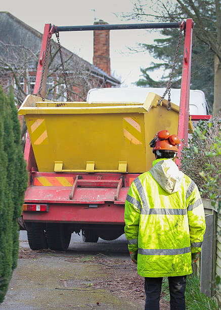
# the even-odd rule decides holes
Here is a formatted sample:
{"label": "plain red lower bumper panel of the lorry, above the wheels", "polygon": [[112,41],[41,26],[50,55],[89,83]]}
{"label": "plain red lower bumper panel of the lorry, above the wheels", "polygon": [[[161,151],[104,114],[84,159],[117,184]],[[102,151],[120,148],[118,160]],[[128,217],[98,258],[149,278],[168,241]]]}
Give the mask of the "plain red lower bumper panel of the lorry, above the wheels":
{"label": "plain red lower bumper panel of the lorry, above the wheels", "polygon": [[124,224],[124,204],[49,204],[49,212],[23,211],[25,222]]}

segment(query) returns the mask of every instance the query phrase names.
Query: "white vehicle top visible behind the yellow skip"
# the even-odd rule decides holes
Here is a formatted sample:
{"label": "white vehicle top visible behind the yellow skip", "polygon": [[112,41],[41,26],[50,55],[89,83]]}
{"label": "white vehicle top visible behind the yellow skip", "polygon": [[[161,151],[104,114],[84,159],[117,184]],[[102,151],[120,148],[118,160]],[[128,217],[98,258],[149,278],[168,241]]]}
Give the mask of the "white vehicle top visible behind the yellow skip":
{"label": "white vehicle top visible behind the yellow skip", "polygon": [[[141,102],[144,103],[149,92],[163,95],[165,88],[93,88],[87,93],[87,102]],[[170,90],[172,103],[180,105],[180,89]],[[165,96],[168,99],[168,95]],[[190,114],[209,114],[205,95],[200,90],[190,90]]]}

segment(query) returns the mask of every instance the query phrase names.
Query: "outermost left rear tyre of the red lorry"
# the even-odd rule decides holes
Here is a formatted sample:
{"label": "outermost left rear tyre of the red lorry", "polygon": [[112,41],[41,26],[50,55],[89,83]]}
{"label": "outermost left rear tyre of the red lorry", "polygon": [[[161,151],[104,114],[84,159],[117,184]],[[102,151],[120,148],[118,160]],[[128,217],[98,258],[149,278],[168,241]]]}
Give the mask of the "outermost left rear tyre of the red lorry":
{"label": "outermost left rear tyre of the red lorry", "polygon": [[46,233],[41,223],[31,223],[27,231],[28,244],[32,250],[48,249]]}

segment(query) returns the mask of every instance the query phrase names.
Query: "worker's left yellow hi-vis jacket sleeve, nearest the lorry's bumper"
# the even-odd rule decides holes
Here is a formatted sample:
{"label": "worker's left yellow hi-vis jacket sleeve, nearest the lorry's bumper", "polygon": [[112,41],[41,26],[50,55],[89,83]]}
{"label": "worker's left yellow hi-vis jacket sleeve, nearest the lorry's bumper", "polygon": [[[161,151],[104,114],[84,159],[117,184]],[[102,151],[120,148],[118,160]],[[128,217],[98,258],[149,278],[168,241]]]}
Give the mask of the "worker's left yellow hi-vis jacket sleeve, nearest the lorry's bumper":
{"label": "worker's left yellow hi-vis jacket sleeve, nearest the lorry's bumper", "polygon": [[137,187],[132,182],[125,201],[124,221],[125,235],[128,242],[129,252],[138,251],[138,231],[141,213],[141,201]]}

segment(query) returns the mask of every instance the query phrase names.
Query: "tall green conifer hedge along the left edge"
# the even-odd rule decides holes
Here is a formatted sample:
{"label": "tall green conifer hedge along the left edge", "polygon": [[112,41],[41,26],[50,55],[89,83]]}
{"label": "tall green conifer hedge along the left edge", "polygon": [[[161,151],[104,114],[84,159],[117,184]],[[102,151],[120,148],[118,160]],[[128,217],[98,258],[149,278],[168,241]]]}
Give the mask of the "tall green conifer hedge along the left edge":
{"label": "tall green conifer hedge along the left edge", "polygon": [[0,303],[17,266],[21,215],[27,171],[21,146],[21,130],[14,95],[0,87]]}

